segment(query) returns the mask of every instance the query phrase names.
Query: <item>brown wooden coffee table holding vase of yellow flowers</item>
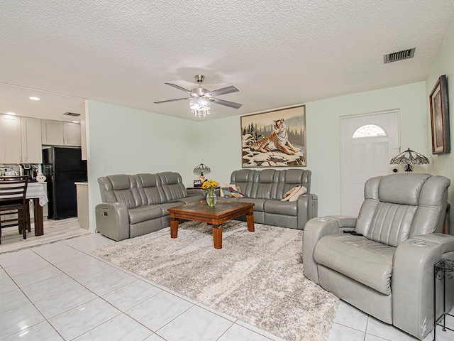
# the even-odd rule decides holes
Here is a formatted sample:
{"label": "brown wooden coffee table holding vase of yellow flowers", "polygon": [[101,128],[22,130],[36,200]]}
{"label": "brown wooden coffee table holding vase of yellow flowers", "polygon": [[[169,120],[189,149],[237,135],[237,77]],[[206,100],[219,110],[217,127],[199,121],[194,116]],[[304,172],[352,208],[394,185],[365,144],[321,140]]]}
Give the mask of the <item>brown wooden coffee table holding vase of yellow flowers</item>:
{"label": "brown wooden coffee table holding vase of yellow flowers", "polygon": [[223,222],[233,218],[246,216],[248,230],[254,232],[253,202],[218,201],[215,207],[206,205],[206,200],[191,204],[168,208],[170,212],[170,237],[177,238],[179,219],[206,222],[213,226],[213,241],[215,249],[222,249]]}

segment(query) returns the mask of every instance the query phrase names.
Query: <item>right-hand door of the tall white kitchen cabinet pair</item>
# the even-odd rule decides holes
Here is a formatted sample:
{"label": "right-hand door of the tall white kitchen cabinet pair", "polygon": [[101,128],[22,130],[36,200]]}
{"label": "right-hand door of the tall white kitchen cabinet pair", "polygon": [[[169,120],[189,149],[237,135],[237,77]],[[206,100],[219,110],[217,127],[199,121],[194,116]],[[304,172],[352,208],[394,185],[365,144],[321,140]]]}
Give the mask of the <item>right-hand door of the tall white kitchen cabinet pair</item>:
{"label": "right-hand door of the tall white kitchen cabinet pair", "polygon": [[43,163],[41,120],[21,117],[21,163]]}

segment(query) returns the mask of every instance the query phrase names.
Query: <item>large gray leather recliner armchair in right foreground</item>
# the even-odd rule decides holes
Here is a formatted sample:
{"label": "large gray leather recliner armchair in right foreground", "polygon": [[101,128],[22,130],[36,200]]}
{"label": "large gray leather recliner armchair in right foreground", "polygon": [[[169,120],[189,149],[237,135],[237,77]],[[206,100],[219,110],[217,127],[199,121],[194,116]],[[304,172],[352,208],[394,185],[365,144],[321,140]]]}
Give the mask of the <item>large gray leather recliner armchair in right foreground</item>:
{"label": "large gray leather recliner armchair in right foreground", "polygon": [[[306,223],[304,275],[365,313],[423,339],[433,329],[433,266],[443,258],[454,260],[454,236],[438,233],[449,185],[448,178],[421,173],[367,180],[358,218],[328,216]],[[437,282],[441,293],[442,281]],[[449,311],[454,289],[453,281],[446,283]],[[441,308],[441,295],[437,300]]]}

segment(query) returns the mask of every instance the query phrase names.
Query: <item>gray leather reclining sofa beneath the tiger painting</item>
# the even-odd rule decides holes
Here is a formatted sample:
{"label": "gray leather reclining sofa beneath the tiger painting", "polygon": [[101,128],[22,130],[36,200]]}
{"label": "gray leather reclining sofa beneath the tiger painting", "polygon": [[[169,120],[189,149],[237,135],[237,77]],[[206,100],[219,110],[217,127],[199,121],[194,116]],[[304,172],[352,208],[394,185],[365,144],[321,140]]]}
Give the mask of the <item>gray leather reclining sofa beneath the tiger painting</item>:
{"label": "gray leather reclining sofa beneath the tiger painting", "polygon": [[[318,197],[311,193],[311,171],[307,169],[240,169],[233,171],[230,183],[238,186],[245,196],[221,197],[220,200],[253,202],[254,222],[304,229],[304,224],[317,216]],[[297,185],[304,186],[307,193],[294,202],[281,201],[284,194]]]}

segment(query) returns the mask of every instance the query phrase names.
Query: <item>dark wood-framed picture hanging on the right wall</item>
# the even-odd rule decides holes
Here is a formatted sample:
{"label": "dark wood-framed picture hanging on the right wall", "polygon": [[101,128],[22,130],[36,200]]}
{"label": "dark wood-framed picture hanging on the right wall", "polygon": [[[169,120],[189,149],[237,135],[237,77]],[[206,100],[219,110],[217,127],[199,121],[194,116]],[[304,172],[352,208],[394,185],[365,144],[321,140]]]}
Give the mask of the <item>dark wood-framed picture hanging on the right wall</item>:
{"label": "dark wood-framed picture hanging on the right wall", "polygon": [[429,96],[431,106],[432,153],[450,153],[449,100],[446,75],[440,76]]}

